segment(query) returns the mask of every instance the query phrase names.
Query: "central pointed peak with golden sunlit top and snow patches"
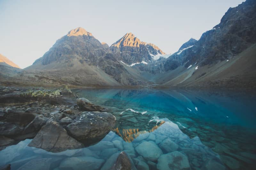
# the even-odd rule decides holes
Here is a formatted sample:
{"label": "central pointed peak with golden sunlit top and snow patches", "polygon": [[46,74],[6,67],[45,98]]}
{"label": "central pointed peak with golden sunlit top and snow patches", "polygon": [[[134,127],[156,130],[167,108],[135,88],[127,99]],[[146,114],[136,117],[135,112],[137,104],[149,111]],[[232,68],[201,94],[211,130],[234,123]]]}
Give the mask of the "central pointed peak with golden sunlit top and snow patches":
{"label": "central pointed peak with golden sunlit top and snow patches", "polygon": [[140,41],[132,33],[126,33],[121,39],[110,46],[117,60],[127,65],[145,63],[154,60],[156,55],[165,53],[152,43]]}

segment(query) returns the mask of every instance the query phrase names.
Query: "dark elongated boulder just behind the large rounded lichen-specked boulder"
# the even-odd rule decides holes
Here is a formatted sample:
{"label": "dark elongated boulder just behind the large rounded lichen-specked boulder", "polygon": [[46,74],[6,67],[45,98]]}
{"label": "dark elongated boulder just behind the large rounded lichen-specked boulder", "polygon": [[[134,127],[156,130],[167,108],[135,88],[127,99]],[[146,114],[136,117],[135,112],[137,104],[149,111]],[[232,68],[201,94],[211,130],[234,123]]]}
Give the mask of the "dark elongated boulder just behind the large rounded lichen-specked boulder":
{"label": "dark elongated boulder just behind the large rounded lichen-specked boulder", "polygon": [[99,111],[99,112],[102,112],[102,111],[106,110],[104,107],[100,107],[100,106],[92,104],[89,100],[87,100],[85,98],[77,99],[77,106],[79,107],[79,109],[81,109],[83,111]]}

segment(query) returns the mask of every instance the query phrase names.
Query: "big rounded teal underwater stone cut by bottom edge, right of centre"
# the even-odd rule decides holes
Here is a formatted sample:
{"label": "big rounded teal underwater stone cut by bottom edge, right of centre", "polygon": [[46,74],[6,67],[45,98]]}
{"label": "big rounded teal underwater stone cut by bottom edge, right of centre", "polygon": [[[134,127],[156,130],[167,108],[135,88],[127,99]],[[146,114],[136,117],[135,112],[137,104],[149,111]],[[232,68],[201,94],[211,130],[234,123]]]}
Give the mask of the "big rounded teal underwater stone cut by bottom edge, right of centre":
{"label": "big rounded teal underwater stone cut by bottom edge, right of centre", "polygon": [[189,170],[190,165],[188,163],[188,158],[179,151],[174,151],[161,155],[157,160],[157,169],[182,169]]}

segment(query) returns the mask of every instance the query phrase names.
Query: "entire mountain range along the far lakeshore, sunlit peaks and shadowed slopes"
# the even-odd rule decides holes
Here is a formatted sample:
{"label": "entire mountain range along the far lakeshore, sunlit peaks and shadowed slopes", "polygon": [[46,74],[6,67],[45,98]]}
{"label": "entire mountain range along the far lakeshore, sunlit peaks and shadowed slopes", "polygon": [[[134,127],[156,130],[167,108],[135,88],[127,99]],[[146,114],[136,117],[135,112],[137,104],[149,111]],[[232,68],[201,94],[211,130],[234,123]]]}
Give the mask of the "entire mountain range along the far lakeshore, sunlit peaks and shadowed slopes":
{"label": "entire mountain range along the far lakeshore, sunlit peaks and shadowed slopes", "polygon": [[256,1],[246,0],[170,56],[132,33],[109,47],[76,28],[24,70],[0,65],[1,84],[255,88],[255,44]]}

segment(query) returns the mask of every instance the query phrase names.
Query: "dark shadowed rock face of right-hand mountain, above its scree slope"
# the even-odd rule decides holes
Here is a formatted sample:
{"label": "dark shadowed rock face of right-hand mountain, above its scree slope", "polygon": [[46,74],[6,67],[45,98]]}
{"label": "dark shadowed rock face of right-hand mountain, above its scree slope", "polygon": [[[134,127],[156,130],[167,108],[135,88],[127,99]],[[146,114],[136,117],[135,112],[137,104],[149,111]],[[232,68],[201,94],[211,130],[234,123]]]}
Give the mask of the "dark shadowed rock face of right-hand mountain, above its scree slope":
{"label": "dark shadowed rock face of right-hand mountain, above its scree slope", "polygon": [[183,44],[178,52],[169,57],[164,70],[173,70],[185,63],[185,67],[196,62],[204,66],[236,56],[256,42],[255,16],[255,0],[229,8],[220,24],[203,33],[198,41],[189,40],[188,45]]}

